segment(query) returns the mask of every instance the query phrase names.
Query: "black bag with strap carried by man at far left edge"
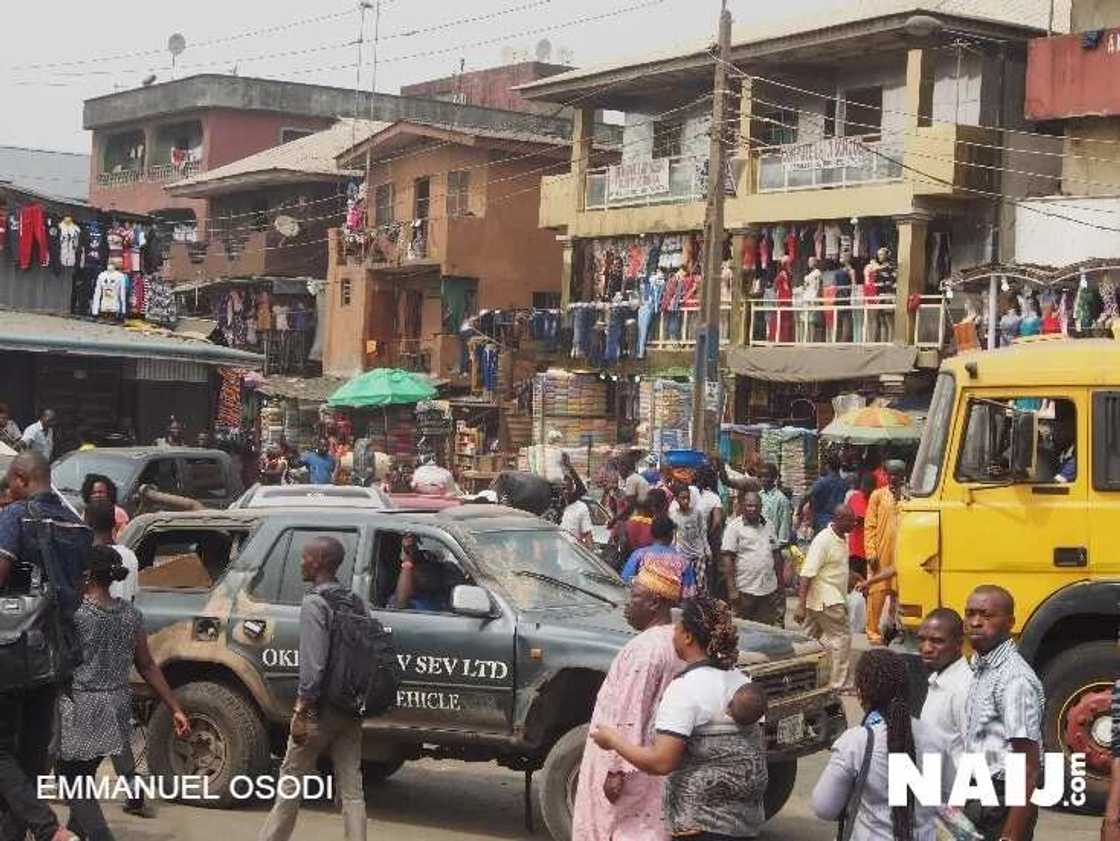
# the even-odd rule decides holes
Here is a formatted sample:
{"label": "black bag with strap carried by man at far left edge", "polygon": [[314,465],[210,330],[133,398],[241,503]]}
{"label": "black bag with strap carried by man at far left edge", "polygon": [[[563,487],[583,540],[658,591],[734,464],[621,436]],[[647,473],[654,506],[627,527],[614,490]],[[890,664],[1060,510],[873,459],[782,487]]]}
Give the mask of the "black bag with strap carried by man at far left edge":
{"label": "black bag with strap carried by man at far left edge", "polygon": [[[34,502],[28,513],[25,522],[35,531],[43,566],[31,567],[26,594],[0,596],[0,693],[66,683],[82,663],[73,609],[63,604],[56,583],[65,580],[55,552],[57,526]],[[84,525],[66,527],[77,540],[88,536]]]}

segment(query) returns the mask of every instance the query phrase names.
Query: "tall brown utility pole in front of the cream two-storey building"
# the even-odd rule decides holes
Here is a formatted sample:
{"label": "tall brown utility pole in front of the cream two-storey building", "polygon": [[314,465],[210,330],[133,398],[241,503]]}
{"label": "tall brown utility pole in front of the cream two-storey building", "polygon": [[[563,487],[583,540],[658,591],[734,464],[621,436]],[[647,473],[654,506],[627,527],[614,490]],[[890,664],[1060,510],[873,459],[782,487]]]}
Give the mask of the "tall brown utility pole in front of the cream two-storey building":
{"label": "tall brown utility pole in front of the cream two-storey building", "polygon": [[731,55],[731,12],[722,0],[719,15],[719,59],[711,108],[711,147],[708,153],[708,215],[704,226],[702,303],[703,324],[697,333],[692,370],[692,449],[715,452],[718,420],[707,423],[708,382],[719,382],[719,315],[724,265],[724,178],[727,144],[727,63]]}

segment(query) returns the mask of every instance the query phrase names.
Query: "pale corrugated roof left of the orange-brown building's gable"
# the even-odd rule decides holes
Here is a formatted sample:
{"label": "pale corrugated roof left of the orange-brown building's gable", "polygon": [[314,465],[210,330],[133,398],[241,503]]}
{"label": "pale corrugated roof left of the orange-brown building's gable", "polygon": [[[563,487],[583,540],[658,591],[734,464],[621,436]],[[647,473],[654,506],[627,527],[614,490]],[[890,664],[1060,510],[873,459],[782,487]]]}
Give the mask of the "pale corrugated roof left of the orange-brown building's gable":
{"label": "pale corrugated roof left of the orange-brown building's gable", "polygon": [[304,176],[349,175],[342,170],[335,158],[356,141],[388,128],[390,123],[377,120],[354,120],[345,118],[329,129],[317,131],[306,138],[250,155],[248,158],[226,163],[224,167],[199,172],[192,178],[169,184],[171,193],[194,187],[215,185],[220,181],[264,174],[295,174]]}

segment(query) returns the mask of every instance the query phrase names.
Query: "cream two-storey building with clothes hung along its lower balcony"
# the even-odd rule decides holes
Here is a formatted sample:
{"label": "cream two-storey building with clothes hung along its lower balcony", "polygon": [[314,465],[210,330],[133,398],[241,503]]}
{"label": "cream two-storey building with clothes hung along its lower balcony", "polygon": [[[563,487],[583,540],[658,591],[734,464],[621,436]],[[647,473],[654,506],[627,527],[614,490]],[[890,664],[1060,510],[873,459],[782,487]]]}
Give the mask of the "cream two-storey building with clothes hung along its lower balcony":
{"label": "cream two-storey building with clothes hung along its lower balcony", "polygon": [[[1043,4],[1040,4],[1043,6]],[[749,381],[851,382],[937,359],[939,283],[1014,249],[1014,202],[1052,188],[1051,138],[1025,125],[1027,20],[1010,6],[883,0],[806,22],[753,18],[732,32],[721,337]],[[618,301],[635,355],[694,335],[716,53],[653,55],[522,86],[529,99],[625,112],[622,161],[547,177],[540,223],[564,235],[564,305]],[[1021,163],[1029,159],[1035,174]],[[885,250],[885,251],[880,251]],[[573,312],[578,321],[581,316]],[[592,317],[584,316],[588,326]],[[577,330],[578,333],[578,330]],[[928,353],[920,353],[927,351]],[[741,384],[741,380],[740,380]],[[785,408],[753,417],[780,419]]]}

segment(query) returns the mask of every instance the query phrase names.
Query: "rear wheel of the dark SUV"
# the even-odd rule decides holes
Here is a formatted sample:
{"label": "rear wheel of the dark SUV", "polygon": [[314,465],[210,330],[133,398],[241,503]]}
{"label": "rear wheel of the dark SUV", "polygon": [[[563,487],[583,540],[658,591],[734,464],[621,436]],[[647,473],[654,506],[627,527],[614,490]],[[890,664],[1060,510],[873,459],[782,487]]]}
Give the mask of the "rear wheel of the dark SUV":
{"label": "rear wheel of the dark SUV", "polygon": [[209,681],[187,683],[175,691],[190,719],[190,736],[175,736],[171,713],[162,704],[148,725],[148,766],[161,776],[202,776],[216,800],[199,805],[228,809],[235,803],[230,783],[239,774],[268,767],[269,740],[256,709],[228,686]]}

